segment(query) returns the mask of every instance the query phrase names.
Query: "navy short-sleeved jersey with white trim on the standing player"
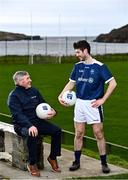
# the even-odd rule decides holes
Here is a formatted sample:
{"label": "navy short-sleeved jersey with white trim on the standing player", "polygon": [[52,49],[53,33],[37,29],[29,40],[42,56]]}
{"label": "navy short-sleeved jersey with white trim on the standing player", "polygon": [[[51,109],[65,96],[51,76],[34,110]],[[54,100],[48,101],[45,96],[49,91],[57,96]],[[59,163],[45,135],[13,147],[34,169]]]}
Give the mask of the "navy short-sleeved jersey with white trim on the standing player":
{"label": "navy short-sleeved jersey with white trim on the standing player", "polygon": [[113,76],[107,66],[95,59],[92,64],[84,61],[76,63],[69,80],[76,82],[76,96],[83,100],[102,98],[104,84],[108,83]]}

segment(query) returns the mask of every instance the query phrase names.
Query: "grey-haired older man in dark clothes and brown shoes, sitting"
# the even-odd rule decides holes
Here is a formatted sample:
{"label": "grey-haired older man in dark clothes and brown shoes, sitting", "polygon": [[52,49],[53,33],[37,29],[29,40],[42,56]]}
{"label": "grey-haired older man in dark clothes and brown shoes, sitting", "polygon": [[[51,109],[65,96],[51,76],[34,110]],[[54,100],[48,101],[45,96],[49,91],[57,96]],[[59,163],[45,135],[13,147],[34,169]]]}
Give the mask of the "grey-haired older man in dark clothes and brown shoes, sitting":
{"label": "grey-haired older man in dark clothes and brown shoes, sitting", "polygon": [[54,172],[61,172],[57,163],[57,156],[61,155],[61,129],[49,122],[55,116],[56,111],[52,108],[47,119],[39,119],[36,115],[36,107],[46,102],[36,88],[31,86],[31,78],[26,71],[17,71],[13,75],[16,85],[8,97],[8,106],[12,113],[14,129],[20,136],[27,136],[29,151],[28,171],[33,176],[40,176],[37,167],[37,139],[38,135],[51,136],[51,152],[48,162]]}

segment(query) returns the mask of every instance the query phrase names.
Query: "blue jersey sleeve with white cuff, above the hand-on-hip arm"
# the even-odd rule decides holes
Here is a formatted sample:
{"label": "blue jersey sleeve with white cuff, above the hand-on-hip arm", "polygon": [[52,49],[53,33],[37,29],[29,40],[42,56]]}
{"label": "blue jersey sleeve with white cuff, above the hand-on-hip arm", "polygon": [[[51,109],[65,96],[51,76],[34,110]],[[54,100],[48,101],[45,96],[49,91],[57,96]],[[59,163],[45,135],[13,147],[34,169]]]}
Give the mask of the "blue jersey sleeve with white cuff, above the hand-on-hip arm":
{"label": "blue jersey sleeve with white cuff, above the hand-on-hip arm", "polygon": [[114,78],[112,73],[110,72],[110,70],[108,69],[108,67],[105,64],[103,64],[101,66],[101,75],[105,81],[105,84],[107,84],[111,79]]}

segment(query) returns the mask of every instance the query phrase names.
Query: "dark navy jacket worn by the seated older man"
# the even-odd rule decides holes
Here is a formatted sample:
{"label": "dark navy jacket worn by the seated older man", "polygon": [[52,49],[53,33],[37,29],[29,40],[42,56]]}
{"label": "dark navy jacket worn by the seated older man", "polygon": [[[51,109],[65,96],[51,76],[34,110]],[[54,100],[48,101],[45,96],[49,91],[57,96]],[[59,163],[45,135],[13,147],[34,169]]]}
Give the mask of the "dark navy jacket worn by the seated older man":
{"label": "dark navy jacket worn by the seated older man", "polygon": [[40,103],[46,102],[36,88],[25,89],[16,86],[8,96],[8,106],[10,108],[14,129],[20,134],[22,128],[36,126],[40,119],[36,115],[36,107]]}

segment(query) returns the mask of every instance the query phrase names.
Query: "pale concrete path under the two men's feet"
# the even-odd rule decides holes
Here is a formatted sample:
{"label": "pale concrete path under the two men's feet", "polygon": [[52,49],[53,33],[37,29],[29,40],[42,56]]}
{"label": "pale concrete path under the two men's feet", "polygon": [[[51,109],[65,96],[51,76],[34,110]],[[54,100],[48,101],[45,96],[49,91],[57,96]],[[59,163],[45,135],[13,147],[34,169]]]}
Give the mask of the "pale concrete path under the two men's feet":
{"label": "pale concrete path under the two men's feet", "polygon": [[[73,152],[62,149],[62,156],[58,158],[59,166],[61,167],[61,173],[54,173],[51,171],[50,165],[47,162],[49,154],[49,144],[44,143],[44,154],[45,154],[45,168],[41,171],[41,177],[32,177],[27,171],[22,171],[11,166],[9,162],[0,161],[0,175],[9,177],[11,180],[16,179],[66,179],[72,177],[90,177],[90,176],[104,176],[101,172],[100,161],[82,155],[81,157],[81,168],[75,172],[68,170],[69,166],[73,161]],[[128,169],[120,168],[109,164],[111,173],[109,175],[128,173]],[[107,176],[107,175],[106,175]]]}

